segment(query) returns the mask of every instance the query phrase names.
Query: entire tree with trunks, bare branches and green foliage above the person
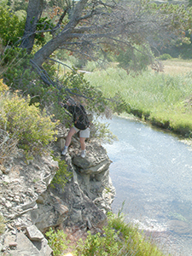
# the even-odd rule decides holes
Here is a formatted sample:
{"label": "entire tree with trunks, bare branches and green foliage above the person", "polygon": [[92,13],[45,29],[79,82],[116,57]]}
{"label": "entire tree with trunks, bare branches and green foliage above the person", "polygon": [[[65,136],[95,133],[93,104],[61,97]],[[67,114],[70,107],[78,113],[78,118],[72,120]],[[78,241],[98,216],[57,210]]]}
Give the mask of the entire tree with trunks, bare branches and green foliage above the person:
{"label": "entire tree with trunks, bare branches and green foliage above the person", "polygon": [[[57,3],[58,7],[52,7]],[[55,10],[57,16],[57,21],[53,20],[54,26],[45,24],[49,10]],[[141,51],[148,56],[146,60],[153,62],[151,49],[163,47],[172,39],[186,40],[185,32],[190,32],[191,11],[183,5],[157,5],[150,0],[29,0],[20,49],[8,49],[9,52],[3,55],[2,63],[7,72],[3,75],[4,82],[13,90],[30,94],[32,102],[40,102],[42,108],[48,108],[56,116],[60,114],[56,106],[58,102],[71,95],[79,96],[79,102],[87,104],[90,111],[98,114],[108,110],[106,106],[112,106],[114,112],[122,111],[122,106],[129,111],[130,107],[120,93],[114,99],[106,99],[101,91],[92,88],[83,75],[74,70],[62,80],[53,76],[58,73],[54,65],[49,65],[50,56],[55,61],[52,55],[55,50],[65,49],[69,54],[97,60],[99,52],[104,56],[108,52],[118,55],[119,49],[129,49],[135,62],[139,60],[137,52]],[[37,43],[37,35],[44,37],[46,32],[51,33],[52,38],[46,38],[43,46],[33,47]],[[33,68],[29,67],[29,59]],[[61,61],[57,62],[61,64]],[[131,67],[136,67],[135,63],[131,62]],[[34,71],[38,72],[41,80]]]}

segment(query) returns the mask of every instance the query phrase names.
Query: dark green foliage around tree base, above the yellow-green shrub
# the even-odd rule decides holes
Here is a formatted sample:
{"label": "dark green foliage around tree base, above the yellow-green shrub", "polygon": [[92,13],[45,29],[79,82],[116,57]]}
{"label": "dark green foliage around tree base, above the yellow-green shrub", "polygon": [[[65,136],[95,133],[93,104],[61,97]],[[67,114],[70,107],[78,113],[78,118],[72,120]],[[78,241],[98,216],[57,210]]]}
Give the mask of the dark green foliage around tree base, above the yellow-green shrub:
{"label": "dark green foliage around tree base, above the yellow-green shrub", "polygon": [[[12,90],[22,90],[24,96],[30,95],[32,97],[31,103],[41,102],[44,107],[51,90],[54,88],[44,84],[38,74],[32,70],[31,59],[32,55],[27,55],[26,49],[14,47],[5,50],[2,56],[4,69],[2,78],[4,83]],[[48,70],[49,77],[55,73],[55,66],[52,63],[50,64],[49,61],[44,63],[44,69]]]}

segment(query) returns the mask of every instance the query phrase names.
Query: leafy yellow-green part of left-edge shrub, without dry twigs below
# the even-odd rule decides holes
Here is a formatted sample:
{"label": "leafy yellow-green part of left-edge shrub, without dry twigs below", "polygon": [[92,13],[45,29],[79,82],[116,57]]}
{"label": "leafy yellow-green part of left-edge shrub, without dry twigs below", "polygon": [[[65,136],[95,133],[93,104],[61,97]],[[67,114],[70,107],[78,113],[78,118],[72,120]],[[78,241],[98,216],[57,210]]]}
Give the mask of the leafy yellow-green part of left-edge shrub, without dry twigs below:
{"label": "leafy yellow-green part of left-edge shrub, without dry twigs below", "polygon": [[25,99],[16,92],[1,96],[0,129],[17,138],[26,154],[41,154],[54,140],[57,122],[30,101],[30,96]]}

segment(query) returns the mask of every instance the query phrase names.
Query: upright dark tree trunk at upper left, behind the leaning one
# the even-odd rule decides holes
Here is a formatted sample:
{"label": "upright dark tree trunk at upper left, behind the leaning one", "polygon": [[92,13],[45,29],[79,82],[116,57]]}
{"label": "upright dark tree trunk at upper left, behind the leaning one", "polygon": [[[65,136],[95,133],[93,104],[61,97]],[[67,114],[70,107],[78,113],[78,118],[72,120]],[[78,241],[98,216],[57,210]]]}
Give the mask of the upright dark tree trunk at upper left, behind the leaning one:
{"label": "upright dark tree trunk at upper left, behind the leaning one", "polygon": [[21,48],[26,48],[28,54],[31,53],[35,40],[35,32],[44,9],[44,0],[29,0],[25,32],[20,44]]}

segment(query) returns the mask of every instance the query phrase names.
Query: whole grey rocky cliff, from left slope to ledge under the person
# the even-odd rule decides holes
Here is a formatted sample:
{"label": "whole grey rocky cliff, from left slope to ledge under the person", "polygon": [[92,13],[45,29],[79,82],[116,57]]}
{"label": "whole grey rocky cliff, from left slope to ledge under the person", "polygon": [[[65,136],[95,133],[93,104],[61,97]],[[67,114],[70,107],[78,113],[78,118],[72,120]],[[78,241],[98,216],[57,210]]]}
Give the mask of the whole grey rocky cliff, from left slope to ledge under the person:
{"label": "whole grey rocky cliff, from left slope to ledge under the person", "polygon": [[[60,155],[66,135],[62,129],[55,155]],[[6,219],[0,236],[3,255],[51,255],[44,237],[49,227],[91,230],[105,222],[115,194],[108,169],[111,161],[94,140],[87,143],[86,151],[82,159],[79,139],[74,137],[69,154],[62,156],[67,172],[73,174],[64,189],[58,184],[54,189],[49,186],[58,170],[50,156],[26,163],[20,151],[17,158],[0,166],[0,211]]]}

